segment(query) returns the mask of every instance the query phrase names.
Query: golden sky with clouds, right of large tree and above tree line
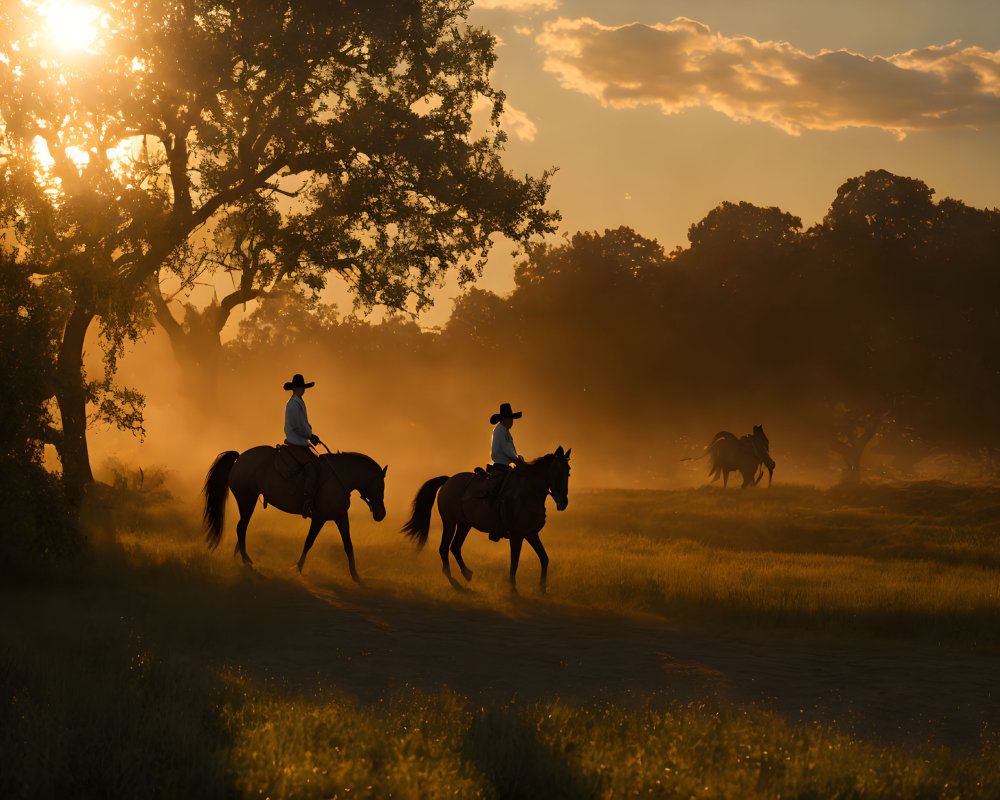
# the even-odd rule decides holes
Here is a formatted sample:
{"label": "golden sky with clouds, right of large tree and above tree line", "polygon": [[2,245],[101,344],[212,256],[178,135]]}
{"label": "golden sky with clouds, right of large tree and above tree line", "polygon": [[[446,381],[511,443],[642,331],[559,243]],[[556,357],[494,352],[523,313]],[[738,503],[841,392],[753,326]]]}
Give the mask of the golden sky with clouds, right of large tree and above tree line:
{"label": "golden sky with clouds, right of large tree and above tree line", "polygon": [[[808,226],[869,169],[1000,205],[993,0],[478,0],[471,21],[500,40],[508,165],[560,168],[561,233],[630,225],[671,249],[724,200]],[[484,288],[511,288],[507,250]]]}

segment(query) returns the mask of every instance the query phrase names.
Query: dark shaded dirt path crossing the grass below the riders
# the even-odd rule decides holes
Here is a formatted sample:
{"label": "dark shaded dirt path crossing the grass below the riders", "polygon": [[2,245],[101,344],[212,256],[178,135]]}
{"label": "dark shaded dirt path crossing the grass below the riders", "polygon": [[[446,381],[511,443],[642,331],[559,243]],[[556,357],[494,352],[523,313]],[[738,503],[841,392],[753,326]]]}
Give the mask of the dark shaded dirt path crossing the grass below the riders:
{"label": "dark shaded dirt path crossing the grass below the riders", "polygon": [[[718,697],[789,721],[836,722],[876,741],[972,748],[1000,726],[996,657],[915,646],[755,645],[537,595],[501,613],[379,587],[309,580],[302,587],[287,607],[257,620],[250,640],[240,626],[230,628],[225,657],[293,687],[335,686],[366,699],[404,686],[501,702]],[[266,638],[261,625],[273,627]]]}

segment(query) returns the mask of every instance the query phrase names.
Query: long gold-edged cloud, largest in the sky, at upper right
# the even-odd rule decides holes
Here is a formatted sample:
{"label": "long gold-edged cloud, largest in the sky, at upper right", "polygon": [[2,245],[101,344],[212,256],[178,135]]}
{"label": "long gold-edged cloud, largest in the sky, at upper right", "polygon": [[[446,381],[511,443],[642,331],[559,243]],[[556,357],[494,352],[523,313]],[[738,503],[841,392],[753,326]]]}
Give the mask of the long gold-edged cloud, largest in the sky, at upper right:
{"label": "long gold-edged cloud, largest in the sky, at upper right", "polygon": [[613,108],[707,106],[793,135],[871,127],[903,137],[1000,122],[1000,51],[957,41],[868,57],[725,36],[685,17],[621,27],[583,17],[547,23],[536,42],[563,87]]}

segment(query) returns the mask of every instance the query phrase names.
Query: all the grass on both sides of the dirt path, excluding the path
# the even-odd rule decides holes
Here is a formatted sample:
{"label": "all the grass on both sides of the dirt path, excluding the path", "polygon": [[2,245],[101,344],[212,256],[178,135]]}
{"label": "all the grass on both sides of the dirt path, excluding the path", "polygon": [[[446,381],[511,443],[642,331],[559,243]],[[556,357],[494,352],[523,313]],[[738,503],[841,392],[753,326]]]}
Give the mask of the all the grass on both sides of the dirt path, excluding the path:
{"label": "all the grass on both sides of the dirt path, excluding the path", "polygon": [[[475,591],[459,593],[436,548],[416,554],[357,514],[359,597],[994,647],[998,506],[995,490],[942,486],[576,494],[543,536],[544,600],[530,553],[518,600],[506,548],[470,540]],[[288,648],[294,669],[304,632],[292,612],[348,584],[335,531],[302,583],[290,570],[301,520],[255,520],[261,575],[206,553],[190,509],[121,509],[119,549],[48,584],[0,587],[0,797],[1000,796],[987,740],[971,754],[879,746],[714,700],[476,702],[405,676],[356,696],[336,665],[322,688],[262,682],[208,643],[234,624],[287,629],[261,646]]]}

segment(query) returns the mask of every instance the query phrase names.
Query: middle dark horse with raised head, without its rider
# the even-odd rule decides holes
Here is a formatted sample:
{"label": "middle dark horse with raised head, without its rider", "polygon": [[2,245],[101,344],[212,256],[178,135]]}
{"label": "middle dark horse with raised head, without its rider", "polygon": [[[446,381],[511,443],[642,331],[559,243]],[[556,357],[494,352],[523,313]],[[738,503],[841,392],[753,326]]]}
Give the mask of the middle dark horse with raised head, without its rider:
{"label": "middle dark horse with raised head, without its rider", "polygon": [[476,490],[485,481],[481,474],[459,472],[457,475],[431,478],[417,492],[413,500],[413,515],[403,526],[403,533],[416,541],[417,549],[426,544],[436,496],[444,525],[441,547],[438,548],[442,572],[452,586],[461,589],[462,585],[452,577],[448,550],[455,556],[462,577],[471,581],[472,570],[462,559],[462,544],[472,528],[483,532],[496,530],[500,521],[499,504],[502,502],[505,512],[509,510],[509,515],[502,519],[502,527],[510,539],[511,591],[517,591],[517,564],[521,558],[521,545],[526,541],[538,554],[542,566],[539,585],[544,593],[549,557],[539,533],[545,525],[545,500],[549,495],[556,501],[558,511],[564,511],[569,505],[569,454],[570,450],[563,452],[560,445],[554,453],[514,467],[501,489],[501,497],[497,499],[477,496]]}

